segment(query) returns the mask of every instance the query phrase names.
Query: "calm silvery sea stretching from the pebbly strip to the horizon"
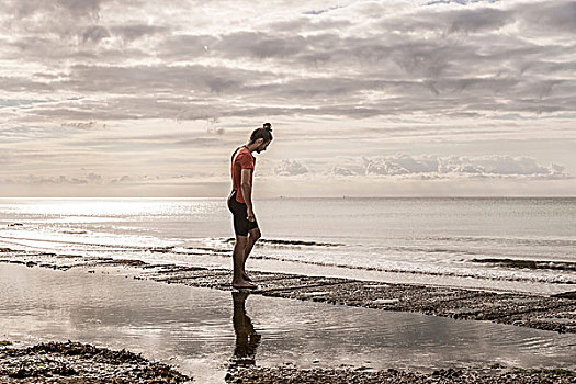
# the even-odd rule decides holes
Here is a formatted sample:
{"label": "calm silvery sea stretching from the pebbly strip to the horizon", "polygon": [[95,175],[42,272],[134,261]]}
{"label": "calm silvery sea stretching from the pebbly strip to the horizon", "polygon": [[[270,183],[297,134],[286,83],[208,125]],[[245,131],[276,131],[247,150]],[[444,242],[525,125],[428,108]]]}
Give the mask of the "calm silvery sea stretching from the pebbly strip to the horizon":
{"label": "calm silvery sea stretching from the pebbly strip to the horizon", "polygon": [[[251,269],[538,293],[576,282],[473,261],[576,262],[576,199],[275,199],[255,211]],[[4,247],[230,264],[225,199],[0,199],[0,217]]]}

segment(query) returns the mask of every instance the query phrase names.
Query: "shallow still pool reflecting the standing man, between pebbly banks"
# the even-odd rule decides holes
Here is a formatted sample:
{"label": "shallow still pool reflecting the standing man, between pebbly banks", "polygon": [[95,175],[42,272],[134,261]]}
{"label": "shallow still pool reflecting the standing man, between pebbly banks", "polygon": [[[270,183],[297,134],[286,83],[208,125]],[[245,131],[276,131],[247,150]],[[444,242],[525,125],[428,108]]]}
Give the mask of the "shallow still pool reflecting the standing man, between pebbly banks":
{"label": "shallow still pool reflecting the standing man, between pebbly banks", "polygon": [[234,301],[102,271],[0,264],[0,338],[126,348],[213,383],[230,360],[252,358],[266,366],[576,370],[575,335],[259,295]]}

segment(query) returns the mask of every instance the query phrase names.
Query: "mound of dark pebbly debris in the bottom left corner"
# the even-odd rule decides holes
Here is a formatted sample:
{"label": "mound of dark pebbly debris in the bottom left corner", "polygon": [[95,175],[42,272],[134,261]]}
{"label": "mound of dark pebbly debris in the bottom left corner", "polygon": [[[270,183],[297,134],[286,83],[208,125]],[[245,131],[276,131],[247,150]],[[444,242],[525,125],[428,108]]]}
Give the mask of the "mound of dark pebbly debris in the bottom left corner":
{"label": "mound of dark pebbly debris in the bottom left corner", "polygon": [[46,342],[29,348],[0,348],[2,383],[190,383],[169,365],[139,354],[79,342]]}

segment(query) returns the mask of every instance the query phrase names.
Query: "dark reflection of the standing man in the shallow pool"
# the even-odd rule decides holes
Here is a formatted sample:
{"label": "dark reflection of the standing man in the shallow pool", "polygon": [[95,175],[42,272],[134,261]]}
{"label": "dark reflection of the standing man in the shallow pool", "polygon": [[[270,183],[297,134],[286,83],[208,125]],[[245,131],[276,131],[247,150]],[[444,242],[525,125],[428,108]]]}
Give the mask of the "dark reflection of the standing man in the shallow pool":
{"label": "dark reflection of the standing man in the shallow pool", "polygon": [[234,349],[234,365],[253,365],[256,364],[256,349],[260,343],[258,335],[252,326],[252,321],[246,315],[246,297],[248,292],[233,292],[234,301],[233,324],[236,332],[236,348]]}

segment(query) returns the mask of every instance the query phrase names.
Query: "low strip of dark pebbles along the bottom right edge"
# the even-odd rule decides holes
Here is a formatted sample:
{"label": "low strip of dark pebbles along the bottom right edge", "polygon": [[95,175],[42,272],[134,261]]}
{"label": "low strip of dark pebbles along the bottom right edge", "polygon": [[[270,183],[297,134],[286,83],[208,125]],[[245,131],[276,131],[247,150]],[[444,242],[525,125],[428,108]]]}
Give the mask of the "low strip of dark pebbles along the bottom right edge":
{"label": "low strip of dark pebbles along the bottom right edge", "polygon": [[431,373],[387,371],[366,371],[360,369],[309,369],[291,366],[239,368],[226,375],[229,384],[537,384],[576,383],[574,372],[564,370],[513,370],[513,369],[448,369]]}

